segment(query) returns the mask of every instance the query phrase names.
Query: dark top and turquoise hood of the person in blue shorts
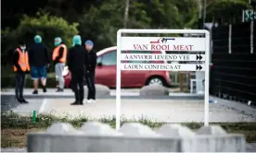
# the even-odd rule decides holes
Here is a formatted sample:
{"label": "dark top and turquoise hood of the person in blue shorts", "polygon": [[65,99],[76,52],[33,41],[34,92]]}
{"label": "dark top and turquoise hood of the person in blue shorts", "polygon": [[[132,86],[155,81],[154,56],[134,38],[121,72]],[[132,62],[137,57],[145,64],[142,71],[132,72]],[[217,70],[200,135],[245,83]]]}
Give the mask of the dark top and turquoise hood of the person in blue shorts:
{"label": "dark top and turquoise hood of the person in blue shorts", "polygon": [[42,38],[37,35],[34,37],[35,44],[29,50],[30,65],[32,66],[45,66],[50,64],[50,53],[42,43]]}

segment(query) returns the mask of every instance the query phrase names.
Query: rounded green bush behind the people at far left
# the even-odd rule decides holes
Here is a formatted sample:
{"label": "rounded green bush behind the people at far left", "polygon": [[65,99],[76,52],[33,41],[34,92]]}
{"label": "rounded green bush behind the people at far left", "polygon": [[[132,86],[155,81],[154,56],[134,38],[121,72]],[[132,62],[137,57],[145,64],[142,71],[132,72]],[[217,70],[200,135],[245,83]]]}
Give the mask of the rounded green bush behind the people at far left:
{"label": "rounded green bush behind the people at far left", "polygon": [[36,34],[42,36],[43,42],[49,50],[54,48],[55,37],[61,37],[67,46],[70,47],[72,37],[78,34],[77,27],[78,23],[69,24],[63,18],[49,16],[44,12],[37,13],[35,18],[23,16],[17,29],[2,31],[1,34],[5,36],[4,40],[2,40],[3,44],[5,44],[2,47],[2,57],[9,57],[8,53],[12,53],[11,51],[14,51],[21,40],[26,41],[28,46],[30,46]]}

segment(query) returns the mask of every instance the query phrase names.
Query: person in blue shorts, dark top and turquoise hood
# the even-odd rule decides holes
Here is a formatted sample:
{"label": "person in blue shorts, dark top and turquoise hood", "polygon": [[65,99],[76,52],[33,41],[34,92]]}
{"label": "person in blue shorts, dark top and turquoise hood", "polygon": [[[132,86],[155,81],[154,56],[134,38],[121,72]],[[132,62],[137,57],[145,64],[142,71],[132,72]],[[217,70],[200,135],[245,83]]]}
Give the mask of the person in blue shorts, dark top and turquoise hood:
{"label": "person in blue shorts, dark top and turquoise hood", "polygon": [[47,47],[42,43],[42,37],[36,35],[33,38],[35,44],[29,51],[30,65],[32,66],[31,75],[33,80],[33,94],[38,94],[38,79],[41,79],[43,92],[46,92],[46,66],[50,64],[50,53]]}

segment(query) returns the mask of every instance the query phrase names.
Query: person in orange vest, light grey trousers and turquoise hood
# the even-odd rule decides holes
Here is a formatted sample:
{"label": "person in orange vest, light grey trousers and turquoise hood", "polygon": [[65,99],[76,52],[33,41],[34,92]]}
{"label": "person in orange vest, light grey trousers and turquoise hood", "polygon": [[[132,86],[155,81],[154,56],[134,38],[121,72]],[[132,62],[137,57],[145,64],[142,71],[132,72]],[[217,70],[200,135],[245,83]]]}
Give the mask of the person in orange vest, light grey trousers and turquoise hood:
{"label": "person in orange vest, light grey trousers and turquoise hood", "polygon": [[55,65],[55,74],[58,81],[58,90],[57,92],[63,92],[64,90],[64,76],[62,76],[66,58],[67,58],[67,47],[62,42],[61,38],[55,38],[55,49],[53,51],[52,60]]}

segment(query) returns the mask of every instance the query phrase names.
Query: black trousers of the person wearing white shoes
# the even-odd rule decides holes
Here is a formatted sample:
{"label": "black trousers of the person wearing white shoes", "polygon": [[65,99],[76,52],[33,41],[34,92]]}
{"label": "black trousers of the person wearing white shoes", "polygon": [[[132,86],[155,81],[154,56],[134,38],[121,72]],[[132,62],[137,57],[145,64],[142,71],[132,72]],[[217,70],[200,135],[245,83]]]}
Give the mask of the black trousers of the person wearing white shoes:
{"label": "black trousers of the person wearing white shoes", "polygon": [[87,73],[85,79],[88,88],[87,100],[96,100],[95,73]]}

